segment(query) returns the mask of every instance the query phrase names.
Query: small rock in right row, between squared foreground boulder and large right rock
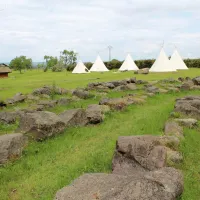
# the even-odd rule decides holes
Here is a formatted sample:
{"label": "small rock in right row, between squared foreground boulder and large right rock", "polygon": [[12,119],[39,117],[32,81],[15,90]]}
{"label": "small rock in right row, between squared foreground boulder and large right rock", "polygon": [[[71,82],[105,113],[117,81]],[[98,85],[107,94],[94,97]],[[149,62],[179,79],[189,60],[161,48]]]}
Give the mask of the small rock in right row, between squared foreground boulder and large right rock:
{"label": "small rock in right row, between squared foreground boulder and large right rock", "polygon": [[175,121],[165,123],[165,135],[183,137],[183,128]]}

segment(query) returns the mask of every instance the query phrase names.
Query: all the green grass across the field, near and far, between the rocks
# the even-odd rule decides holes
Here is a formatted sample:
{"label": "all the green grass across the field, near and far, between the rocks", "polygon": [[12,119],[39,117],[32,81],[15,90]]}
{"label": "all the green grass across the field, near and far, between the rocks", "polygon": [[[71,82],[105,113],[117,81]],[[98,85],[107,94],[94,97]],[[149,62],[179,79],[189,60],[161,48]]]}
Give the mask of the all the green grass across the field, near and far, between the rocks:
{"label": "all the green grass across the field, near and far, between the rocks", "polygon": [[[0,80],[0,97],[6,99],[17,92],[28,93],[42,85],[60,87],[83,87],[88,82],[110,81],[136,76],[143,80],[158,80],[179,76],[195,77],[200,70],[190,69],[178,73],[134,75],[126,73],[94,73],[72,75],[52,72],[26,72],[20,75],[14,72],[9,79]],[[15,76],[16,78],[12,78]],[[81,78],[80,78],[81,77]],[[97,79],[99,78],[99,79]],[[93,80],[91,80],[93,79]],[[129,92],[111,92],[109,97],[119,97]],[[132,93],[141,93],[134,91]],[[143,106],[132,105],[123,112],[111,112],[105,121],[97,126],[69,128],[63,134],[44,142],[32,142],[24,150],[22,157],[0,168],[0,200],[50,200],[57,190],[70,184],[75,178],[88,172],[110,172],[115,143],[124,135],[162,135],[165,121],[173,110],[175,99],[185,95],[198,94],[200,91],[170,93],[148,98]],[[56,107],[51,111],[86,107],[97,103],[94,99],[72,102],[70,105]],[[19,104],[15,109],[27,107]],[[11,132],[13,126],[0,125],[0,134]],[[181,144],[184,163],[178,166],[184,172],[185,191],[182,200],[200,199],[200,134],[199,129],[185,129],[185,140]]]}

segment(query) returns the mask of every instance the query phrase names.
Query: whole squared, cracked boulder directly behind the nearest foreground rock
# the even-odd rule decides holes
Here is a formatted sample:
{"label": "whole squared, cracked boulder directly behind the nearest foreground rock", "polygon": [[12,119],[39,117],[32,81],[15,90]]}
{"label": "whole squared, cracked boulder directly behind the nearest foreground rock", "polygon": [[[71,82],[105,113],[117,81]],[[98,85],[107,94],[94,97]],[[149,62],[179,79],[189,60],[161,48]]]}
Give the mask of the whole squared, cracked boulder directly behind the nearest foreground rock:
{"label": "whole squared, cracked boulder directly behind the nearest foreground rock", "polygon": [[[119,157],[118,154],[121,154]],[[113,173],[125,173],[127,162],[131,160],[133,173],[156,170],[167,165],[167,150],[156,136],[119,137],[112,162]]]}

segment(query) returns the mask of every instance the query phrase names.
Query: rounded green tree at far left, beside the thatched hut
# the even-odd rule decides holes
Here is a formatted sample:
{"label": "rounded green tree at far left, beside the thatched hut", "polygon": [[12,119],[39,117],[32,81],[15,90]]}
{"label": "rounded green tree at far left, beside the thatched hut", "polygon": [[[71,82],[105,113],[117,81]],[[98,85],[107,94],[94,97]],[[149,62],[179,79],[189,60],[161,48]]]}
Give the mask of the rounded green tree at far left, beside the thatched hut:
{"label": "rounded green tree at far left, beside the thatched hut", "polygon": [[26,56],[16,57],[10,62],[10,68],[19,70],[20,74],[23,69],[32,69],[32,59]]}

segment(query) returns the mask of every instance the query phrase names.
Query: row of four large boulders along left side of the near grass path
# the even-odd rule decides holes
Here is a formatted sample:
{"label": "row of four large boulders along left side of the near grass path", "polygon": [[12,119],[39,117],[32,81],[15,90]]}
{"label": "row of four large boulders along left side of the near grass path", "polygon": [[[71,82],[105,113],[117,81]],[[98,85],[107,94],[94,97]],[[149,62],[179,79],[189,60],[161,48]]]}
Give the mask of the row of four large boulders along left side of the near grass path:
{"label": "row of four large boulders along left side of the near grass path", "polygon": [[59,115],[47,111],[21,113],[17,133],[0,136],[0,164],[20,157],[30,139],[42,141],[62,133],[68,127],[98,124],[108,111],[108,106],[93,104],[86,110],[72,109]]}

